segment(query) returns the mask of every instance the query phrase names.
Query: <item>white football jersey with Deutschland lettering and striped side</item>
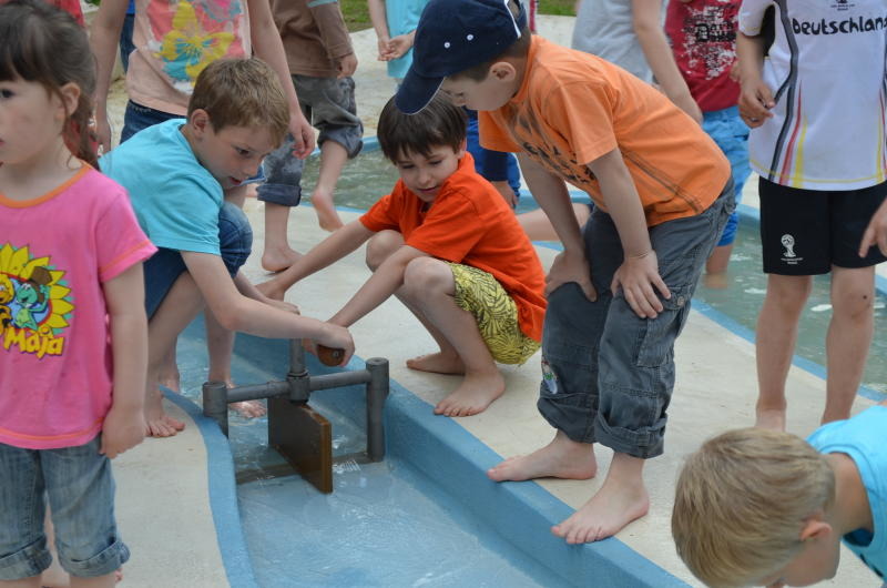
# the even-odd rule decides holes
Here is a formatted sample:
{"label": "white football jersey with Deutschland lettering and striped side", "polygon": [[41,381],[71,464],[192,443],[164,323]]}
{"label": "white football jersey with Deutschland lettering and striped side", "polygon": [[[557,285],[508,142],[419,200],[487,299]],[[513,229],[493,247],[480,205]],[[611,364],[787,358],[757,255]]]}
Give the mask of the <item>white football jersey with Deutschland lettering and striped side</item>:
{"label": "white football jersey with Deutschland lettering and striped side", "polygon": [[887,0],[744,0],[740,30],[776,11],[764,62],[774,116],[748,138],[752,168],[777,184],[857,190],[887,180]]}

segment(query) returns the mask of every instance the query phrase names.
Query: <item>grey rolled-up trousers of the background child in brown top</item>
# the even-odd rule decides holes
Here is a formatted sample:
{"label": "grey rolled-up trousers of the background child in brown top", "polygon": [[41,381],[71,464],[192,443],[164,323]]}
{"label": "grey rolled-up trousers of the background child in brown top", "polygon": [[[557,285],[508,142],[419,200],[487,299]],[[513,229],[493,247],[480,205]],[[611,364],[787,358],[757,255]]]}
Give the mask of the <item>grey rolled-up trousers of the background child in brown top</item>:
{"label": "grey rolled-up trousers of the background child in brown top", "polygon": [[[312,78],[293,75],[302,112],[320,134],[317,144],[335,141],[345,148],[348,158],[364,146],[364,124],[357,116],[354,80],[350,78]],[[258,186],[258,200],[283,206],[296,206],[302,200],[303,161],[293,155],[293,136],[265,158],[267,181]]]}

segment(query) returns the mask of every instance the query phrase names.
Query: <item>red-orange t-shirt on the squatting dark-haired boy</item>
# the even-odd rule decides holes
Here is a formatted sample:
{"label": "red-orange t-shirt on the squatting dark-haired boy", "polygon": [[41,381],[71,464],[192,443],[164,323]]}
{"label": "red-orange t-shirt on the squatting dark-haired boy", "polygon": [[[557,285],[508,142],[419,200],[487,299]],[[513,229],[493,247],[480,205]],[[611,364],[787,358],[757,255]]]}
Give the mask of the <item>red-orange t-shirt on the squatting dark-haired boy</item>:
{"label": "red-orange t-shirt on the squatting dark-haired boy", "polygon": [[374,232],[397,231],[407,245],[434,257],[492,274],[517,304],[521,332],[542,341],[542,264],[504,199],[475,171],[470,153],[462,156],[430,206],[398,180],[360,222]]}

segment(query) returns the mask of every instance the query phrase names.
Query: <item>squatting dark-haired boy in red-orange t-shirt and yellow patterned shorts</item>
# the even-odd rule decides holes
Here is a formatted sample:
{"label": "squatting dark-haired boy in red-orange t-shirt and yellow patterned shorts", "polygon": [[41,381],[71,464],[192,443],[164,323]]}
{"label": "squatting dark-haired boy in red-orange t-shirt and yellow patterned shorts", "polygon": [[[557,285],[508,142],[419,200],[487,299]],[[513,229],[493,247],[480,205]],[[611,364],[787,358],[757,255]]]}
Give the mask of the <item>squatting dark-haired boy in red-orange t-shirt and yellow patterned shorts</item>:
{"label": "squatting dark-haired boy in red-orange t-shirt and yellow patterned shorts", "polygon": [[465,375],[435,413],[480,413],[504,392],[496,362],[522,364],[539,348],[542,265],[511,209],[475,171],[462,109],[437,99],[407,116],[389,100],[378,139],[400,172],[394,191],[259,288],[282,298],[369,241],[373,276],[329,322],[350,326],[395,294],[440,346],[407,366]]}

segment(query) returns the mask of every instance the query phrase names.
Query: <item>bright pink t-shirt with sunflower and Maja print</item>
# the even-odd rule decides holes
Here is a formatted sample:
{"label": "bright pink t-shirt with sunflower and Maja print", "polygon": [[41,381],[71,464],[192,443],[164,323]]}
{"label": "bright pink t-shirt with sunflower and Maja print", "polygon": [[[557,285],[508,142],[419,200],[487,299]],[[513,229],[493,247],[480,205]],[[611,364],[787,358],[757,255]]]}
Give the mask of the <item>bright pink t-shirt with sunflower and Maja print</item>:
{"label": "bright pink t-shirt with sunflower and Maja print", "polygon": [[126,191],[86,164],[40,197],[0,193],[0,443],[99,434],[113,392],[102,284],[155,251]]}

